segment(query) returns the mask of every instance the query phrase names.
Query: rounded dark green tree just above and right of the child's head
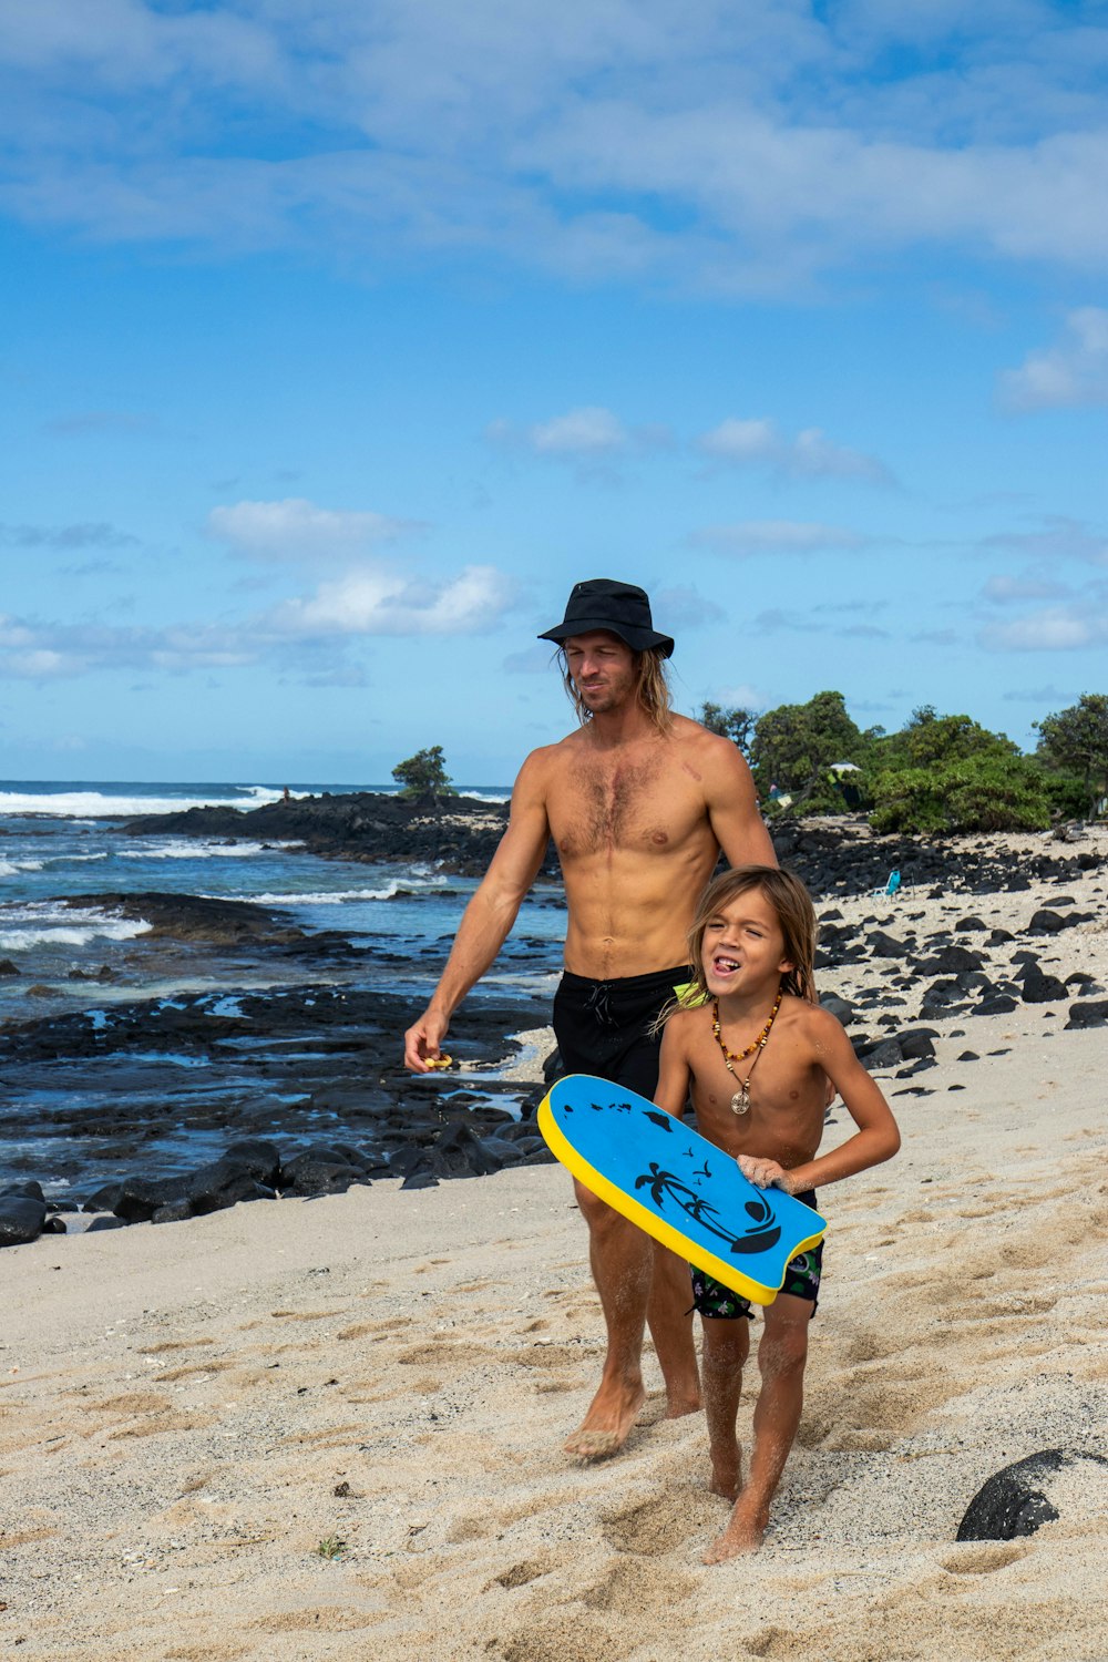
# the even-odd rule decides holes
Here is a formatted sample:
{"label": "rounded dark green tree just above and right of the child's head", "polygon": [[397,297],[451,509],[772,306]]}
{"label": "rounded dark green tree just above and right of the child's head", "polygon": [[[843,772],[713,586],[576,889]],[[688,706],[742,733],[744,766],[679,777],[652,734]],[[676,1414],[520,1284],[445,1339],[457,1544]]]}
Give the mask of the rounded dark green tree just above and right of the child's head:
{"label": "rounded dark green tree just above and right of the child's head", "polygon": [[847,715],[842,693],[816,693],[806,705],[779,705],[757,718],[751,763],[762,801],[777,784],[794,798],[791,811],[842,809],[842,798],[827,771],[836,761],[864,766],[869,740]]}

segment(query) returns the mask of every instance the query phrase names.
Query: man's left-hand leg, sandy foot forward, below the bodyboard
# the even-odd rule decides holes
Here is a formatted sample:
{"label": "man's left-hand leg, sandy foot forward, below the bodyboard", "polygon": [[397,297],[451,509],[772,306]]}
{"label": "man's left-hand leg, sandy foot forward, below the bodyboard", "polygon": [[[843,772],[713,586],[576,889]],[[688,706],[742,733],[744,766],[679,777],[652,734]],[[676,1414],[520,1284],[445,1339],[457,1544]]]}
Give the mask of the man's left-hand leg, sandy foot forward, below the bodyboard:
{"label": "man's left-hand leg, sandy foot forward, below the bodyboard", "polygon": [[643,1389],[643,1331],[653,1276],[653,1242],[648,1235],[575,1183],[588,1223],[588,1258],[605,1311],[608,1353],[596,1396],[580,1428],[565,1444],[566,1454],[601,1459],[626,1443]]}

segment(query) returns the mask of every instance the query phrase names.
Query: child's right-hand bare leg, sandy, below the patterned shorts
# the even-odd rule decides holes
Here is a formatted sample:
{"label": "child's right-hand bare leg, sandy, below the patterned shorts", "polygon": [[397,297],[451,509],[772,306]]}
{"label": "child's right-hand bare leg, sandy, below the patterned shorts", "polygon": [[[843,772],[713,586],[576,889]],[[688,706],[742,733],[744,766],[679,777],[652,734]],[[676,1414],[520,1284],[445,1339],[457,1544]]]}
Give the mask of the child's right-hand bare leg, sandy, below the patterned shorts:
{"label": "child's right-hand bare leg, sandy, below the patterned shorts", "polygon": [[739,1552],[757,1552],[772,1501],[804,1408],[804,1363],[812,1306],[804,1298],[779,1293],[766,1310],[766,1331],[757,1348],[762,1388],[754,1408],[754,1448],[746,1487],[734,1502],[728,1527],[704,1554],[719,1564]]}

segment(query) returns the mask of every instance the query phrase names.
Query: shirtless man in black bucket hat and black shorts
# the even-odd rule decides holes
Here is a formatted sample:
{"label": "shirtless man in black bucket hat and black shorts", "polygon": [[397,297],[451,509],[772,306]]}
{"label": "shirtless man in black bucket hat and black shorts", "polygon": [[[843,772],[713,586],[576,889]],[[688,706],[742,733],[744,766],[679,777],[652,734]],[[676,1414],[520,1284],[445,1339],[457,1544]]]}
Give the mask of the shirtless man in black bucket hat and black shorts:
{"label": "shirtless man in black bucket hat and black shorts", "polygon": [[[650,600],[630,583],[576,583],[565,620],[540,640],[561,648],[580,728],[532,751],[512,814],[465,909],[435,994],[405,1034],[424,1074],[450,1017],[492,966],[553,838],[568,911],[553,1025],[566,1072],[596,1074],[653,1097],[658,1012],[689,979],[686,934],[719,849],[733,866],[776,864],[749,768],[736,746],[669,711]],[[566,1453],[613,1454],[645,1399],[648,1321],[671,1418],[699,1408],[688,1265],[580,1183],[590,1263],[608,1328],[596,1396]]]}

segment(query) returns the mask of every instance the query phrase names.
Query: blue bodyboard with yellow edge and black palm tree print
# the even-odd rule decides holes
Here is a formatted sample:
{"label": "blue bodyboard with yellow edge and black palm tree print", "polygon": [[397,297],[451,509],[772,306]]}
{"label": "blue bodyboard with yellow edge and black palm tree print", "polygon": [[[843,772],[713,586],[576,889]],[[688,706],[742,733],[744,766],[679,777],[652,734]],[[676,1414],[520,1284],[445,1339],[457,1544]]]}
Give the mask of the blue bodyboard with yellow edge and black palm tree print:
{"label": "blue bodyboard with yellow edge and black palm tree print", "polygon": [[723,1148],[605,1079],[560,1079],[538,1128],[600,1200],[756,1305],[772,1305],[789,1260],[824,1237],[802,1200],[756,1188]]}

